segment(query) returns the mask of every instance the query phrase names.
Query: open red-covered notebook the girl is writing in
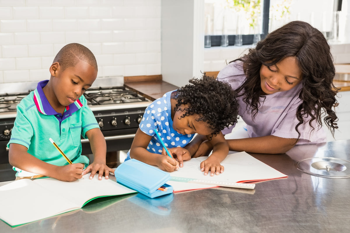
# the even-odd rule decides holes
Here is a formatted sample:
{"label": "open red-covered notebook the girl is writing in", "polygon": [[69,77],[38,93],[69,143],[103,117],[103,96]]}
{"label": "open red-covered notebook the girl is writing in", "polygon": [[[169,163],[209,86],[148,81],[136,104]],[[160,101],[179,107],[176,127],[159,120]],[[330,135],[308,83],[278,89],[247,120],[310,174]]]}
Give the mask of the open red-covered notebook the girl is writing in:
{"label": "open red-covered notebook the girl is writing in", "polygon": [[170,176],[172,179],[167,184],[172,185],[174,192],[205,189],[217,187],[218,185],[208,184],[196,184],[189,182],[179,182],[175,180],[181,180],[180,178],[190,178],[197,180],[206,181],[217,181],[217,182],[235,182],[235,183],[246,183],[246,182],[257,182],[266,181],[279,178],[286,178],[287,175],[275,170],[274,168],[266,165],[265,163],[255,159],[253,156],[246,152],[239,152],[229,154],[221,162],[225,170],[223,173],[215,176],[204,175],[201,172],[200,164],[208,157],[192,158],[188,161],[183,162],[183,167],[179,168],[179,171],[171,172]]}

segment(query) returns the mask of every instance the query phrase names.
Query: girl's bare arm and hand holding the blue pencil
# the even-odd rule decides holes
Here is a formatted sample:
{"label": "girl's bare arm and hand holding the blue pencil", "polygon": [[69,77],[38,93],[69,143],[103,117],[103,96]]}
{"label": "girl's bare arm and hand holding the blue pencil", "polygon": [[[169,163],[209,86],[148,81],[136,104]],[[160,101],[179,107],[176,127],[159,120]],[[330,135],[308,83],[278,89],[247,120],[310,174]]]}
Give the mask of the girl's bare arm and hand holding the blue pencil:
{"label": "girl's bare arm and hand holding the blue pencil", "polygon": [[130,148],[130,158],[137,159],[149,165],[158,166],[167,172],[173,172],[179,168],[179,162],[168,155],[155,154],[146,150],[152,136],[137,130]]}

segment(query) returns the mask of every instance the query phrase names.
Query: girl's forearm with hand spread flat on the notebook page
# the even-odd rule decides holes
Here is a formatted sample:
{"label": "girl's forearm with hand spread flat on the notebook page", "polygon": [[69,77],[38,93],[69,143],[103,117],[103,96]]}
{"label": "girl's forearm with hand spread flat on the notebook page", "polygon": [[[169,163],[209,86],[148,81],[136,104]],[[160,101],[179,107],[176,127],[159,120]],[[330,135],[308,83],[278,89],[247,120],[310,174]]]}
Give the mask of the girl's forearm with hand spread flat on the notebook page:
{"label": "girl's forearm with hand spread flat on the notebook page", "polygon": [[201,162],[200,168],[202,172],[204,171],[204,175],[207,175],[210,170],[210,175],[214,176],[214,174],[219,175],[219,173],[224,172],[224,167],[220,165],[220,162],[229,153],[229,146],[221,132],[213,135],[211,139],[210,137],[211,135],[208,135],[207,139],[213,147],[213,152],[208,159]]}

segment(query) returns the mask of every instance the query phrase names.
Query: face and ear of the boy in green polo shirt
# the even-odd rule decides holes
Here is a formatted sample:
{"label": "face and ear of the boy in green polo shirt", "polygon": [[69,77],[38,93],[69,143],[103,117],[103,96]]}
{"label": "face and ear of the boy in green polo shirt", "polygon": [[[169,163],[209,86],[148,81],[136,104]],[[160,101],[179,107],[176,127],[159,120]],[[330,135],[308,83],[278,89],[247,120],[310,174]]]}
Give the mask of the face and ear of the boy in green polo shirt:
{"label": "face and ear of the boy in green polo shirt", "polygon": [[82,60],[63,71],[58,63],[54,63],[50,72],[54,76],[52,89],[56,97],[52,101],[62,106],[68,106],[79,99],[97,77],[96,69]]}

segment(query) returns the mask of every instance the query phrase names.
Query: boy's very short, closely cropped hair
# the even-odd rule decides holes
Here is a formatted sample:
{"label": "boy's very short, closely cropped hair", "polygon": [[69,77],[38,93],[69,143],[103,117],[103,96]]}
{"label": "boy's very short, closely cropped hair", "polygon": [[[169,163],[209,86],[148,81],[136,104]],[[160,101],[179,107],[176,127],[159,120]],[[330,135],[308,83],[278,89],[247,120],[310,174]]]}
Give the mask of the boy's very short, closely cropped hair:
{"label": "boy's very short, closely cropped hair", "polygon": [[78,43],[63,46],[52,63],[58,62],[62,71],[64,71],[68,67],[75,66],[79,60],[89,63],[97,71],[97,62],[93,53],[90,49]]}

